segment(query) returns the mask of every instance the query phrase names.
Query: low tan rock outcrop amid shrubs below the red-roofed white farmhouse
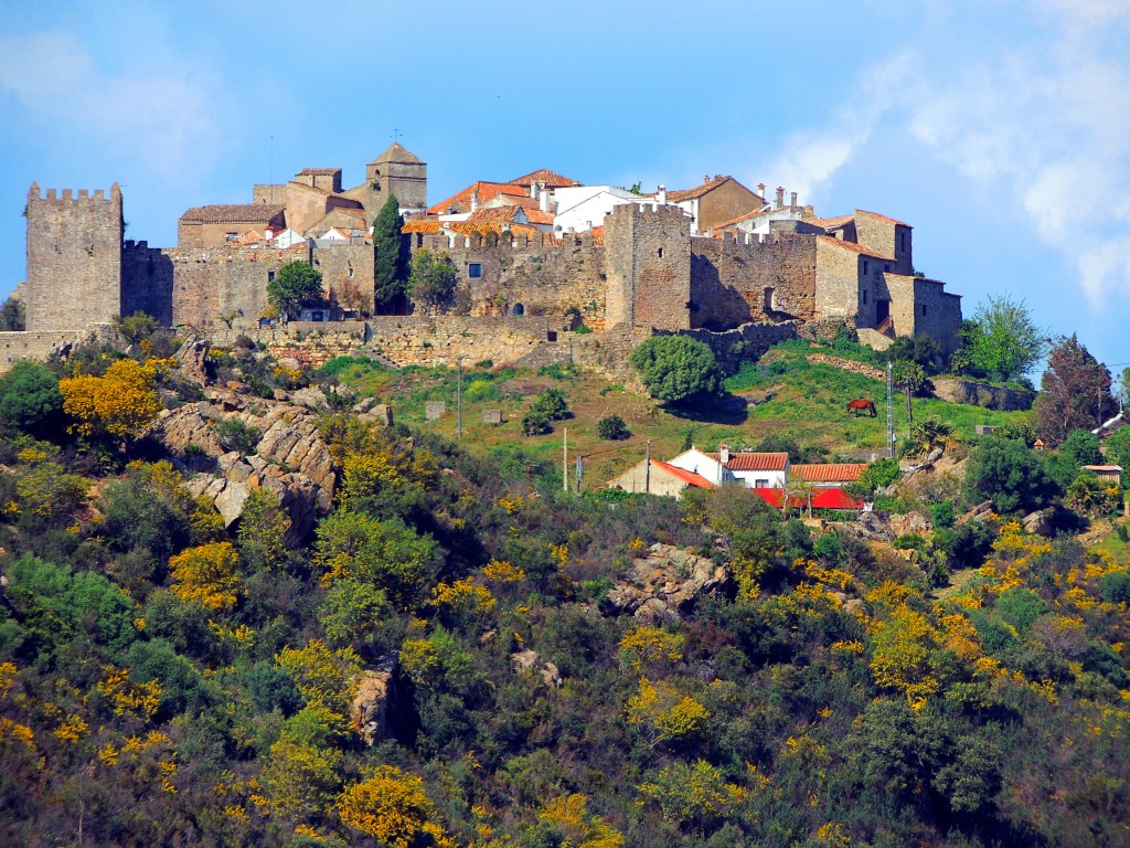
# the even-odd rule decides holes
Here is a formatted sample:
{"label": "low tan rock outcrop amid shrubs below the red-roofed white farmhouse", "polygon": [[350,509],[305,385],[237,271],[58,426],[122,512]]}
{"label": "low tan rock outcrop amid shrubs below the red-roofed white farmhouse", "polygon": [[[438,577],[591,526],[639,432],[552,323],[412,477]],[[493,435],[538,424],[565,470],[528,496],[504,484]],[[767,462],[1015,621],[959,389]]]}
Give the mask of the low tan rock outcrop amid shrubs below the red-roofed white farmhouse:
{"label": "low tan rock outcrop amid shrubs below the red-roofed white farmhouse", "polygon": [[647,555],[632,563],[608,599],[620,612],[643,622],[678,618],[679,612],[704,595],[713,595],[729,581],[729,572],[710,559],[675,545],[655,544]]}

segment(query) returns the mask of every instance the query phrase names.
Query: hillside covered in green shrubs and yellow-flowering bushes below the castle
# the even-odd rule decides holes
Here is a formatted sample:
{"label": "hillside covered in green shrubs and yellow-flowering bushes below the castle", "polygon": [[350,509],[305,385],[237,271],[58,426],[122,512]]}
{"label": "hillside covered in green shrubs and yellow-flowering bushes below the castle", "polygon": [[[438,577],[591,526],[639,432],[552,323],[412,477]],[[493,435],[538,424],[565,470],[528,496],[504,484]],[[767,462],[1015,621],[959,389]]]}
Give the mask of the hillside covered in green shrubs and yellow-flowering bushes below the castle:
{"label": "hillside covered in green shrubs and yellow-flowering bushes below the castle", "polygon": [[[310,373],[244,345],[207,352],[200,386],[137,349],[0,381],[21,410],[0,434],[0,843],[1127,841],[1130,568],[1114,493],[1077,486],[1087,445],[1052,461],[1023,414],[915,399],[954,423],[958,460],[879,493],[918,529],[892,538],[883,513],[814,533],[738,487],[588,491],[640,440],[662,457],[688,431],[881,449],[881,416],[843,412],[879,383],[800,346],[731,378],[768,400],[697,418],[590,374],[469,370],[459,443],[450,371]],[[295,538],[266,482],[299,469],[247,421],[297,421],[312,397],[324,456],[303,467],[336,485]],[[427,399],[446,415],[425,423]],[[174,449],[138,425],[154,403],[210,423]],[[536,404],[555,432],[522,435]],[[614,413],[634,447],[564,494],[560,429],[623,445],[597,432]],[[182,485],[241,462],[258,470],[237,520]],[[1024,529],[1042,508],[1064,533]]]}

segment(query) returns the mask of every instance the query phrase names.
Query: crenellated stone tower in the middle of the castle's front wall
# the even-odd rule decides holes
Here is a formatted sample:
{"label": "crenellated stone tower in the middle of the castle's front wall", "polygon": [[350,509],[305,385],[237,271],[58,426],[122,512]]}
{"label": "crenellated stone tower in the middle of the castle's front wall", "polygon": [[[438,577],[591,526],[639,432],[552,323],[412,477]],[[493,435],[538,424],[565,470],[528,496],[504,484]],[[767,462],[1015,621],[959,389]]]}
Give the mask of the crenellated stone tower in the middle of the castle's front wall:
{"label": "crenellated stone tower in the middle of the castle's front wall", "polygon": [[605,218],[607,325],[690,328],[690,219],[677,206],[624,204]]}

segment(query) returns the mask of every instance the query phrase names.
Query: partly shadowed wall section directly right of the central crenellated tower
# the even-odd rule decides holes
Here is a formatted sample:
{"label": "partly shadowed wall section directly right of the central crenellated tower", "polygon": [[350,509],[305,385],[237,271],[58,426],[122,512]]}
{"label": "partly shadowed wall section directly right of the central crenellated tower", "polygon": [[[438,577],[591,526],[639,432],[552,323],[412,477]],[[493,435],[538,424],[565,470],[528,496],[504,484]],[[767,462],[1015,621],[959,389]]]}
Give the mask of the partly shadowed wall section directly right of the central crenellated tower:
{"label": "partly shadowed wall section directly right of the central crenellated tower", "polygon": [[816,317],[816,240],[774,233],[692,239],[694,327]]}

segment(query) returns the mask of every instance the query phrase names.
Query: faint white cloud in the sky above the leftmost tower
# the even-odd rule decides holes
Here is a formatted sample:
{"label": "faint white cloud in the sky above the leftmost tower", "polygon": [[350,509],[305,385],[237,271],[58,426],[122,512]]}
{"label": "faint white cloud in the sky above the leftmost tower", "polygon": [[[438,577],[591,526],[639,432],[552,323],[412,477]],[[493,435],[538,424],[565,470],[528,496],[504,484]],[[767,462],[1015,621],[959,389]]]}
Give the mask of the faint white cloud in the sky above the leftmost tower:
{"label": "faint white cloud in the sky above the leftmost tower", "polygon": [[66,32],[0,35],[0,95],[51,138],[110,148],[165,180],[203,170],[220,154],[221,118],[211,98],[218,88],[172,58],[112,72]]}

